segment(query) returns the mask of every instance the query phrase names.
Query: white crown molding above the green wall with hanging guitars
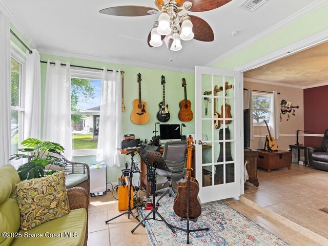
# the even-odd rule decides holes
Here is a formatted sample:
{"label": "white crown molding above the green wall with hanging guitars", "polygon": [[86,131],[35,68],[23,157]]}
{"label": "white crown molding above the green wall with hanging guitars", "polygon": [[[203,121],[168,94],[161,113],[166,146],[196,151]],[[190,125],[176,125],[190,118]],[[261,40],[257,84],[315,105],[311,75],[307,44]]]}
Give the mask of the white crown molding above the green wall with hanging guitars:
{"label": "white crown molding above the green wall with hanging guitars", "polygon": [[148,64],[148,63],[137,63],[137,62],[131,61],[131,60],[118,60],[118,59],[111,59],[111,58],[101,57],[101,56],[76,54],[76,53],[71,53],[71,52],[62,52],[62,51],[48,50],[48,49],[42,49],[42,48],[39,49],[39,53],[43,53],[43,54],[47,54],[47,55],[71,57],[71,58],[77,58],[77,59],[103,61],[104,63],[114,63],[114,64],[121,64],[121,65],[126,65],[126,66],[135,66],[135,67],[158,69],[158,70],[168,70],[168,71],[174,71],[174,72],[179,72],[179,73],[190,73],[190,74],[195,73],[195,71],[192,69],[158,66],[158,65],[154,65],[154,64]]}

